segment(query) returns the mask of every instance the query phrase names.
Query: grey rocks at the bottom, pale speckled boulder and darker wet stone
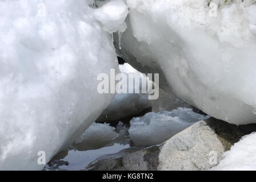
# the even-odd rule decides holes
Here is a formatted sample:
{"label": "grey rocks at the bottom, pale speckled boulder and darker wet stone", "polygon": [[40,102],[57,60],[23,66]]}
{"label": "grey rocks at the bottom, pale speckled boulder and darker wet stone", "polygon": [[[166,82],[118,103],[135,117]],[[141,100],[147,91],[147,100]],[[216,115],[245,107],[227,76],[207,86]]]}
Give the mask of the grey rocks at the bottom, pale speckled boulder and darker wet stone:
{"label": "grey rocks at the bottom, pale speckled boulder and darker wet stone", "polygon": [[147,148],[131,147],[102,156],[87,170],[208,170],[256,125],[231,125],[214,118],[199,121],[166,142]]}

